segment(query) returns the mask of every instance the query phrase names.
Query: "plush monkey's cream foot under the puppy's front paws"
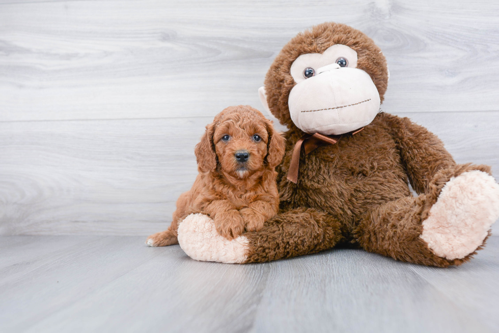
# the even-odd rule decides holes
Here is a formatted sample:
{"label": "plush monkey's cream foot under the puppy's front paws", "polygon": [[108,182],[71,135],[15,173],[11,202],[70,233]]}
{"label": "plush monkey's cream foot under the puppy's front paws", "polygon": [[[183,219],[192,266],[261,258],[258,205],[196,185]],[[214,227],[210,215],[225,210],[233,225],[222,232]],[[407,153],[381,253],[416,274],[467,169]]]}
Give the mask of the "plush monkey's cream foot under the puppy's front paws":
{"label": "plush monkey's cream foot under the puppy's front paws", "polygon": [[178,241],[184,252],[195,260],[243,263],[247,260],[248,240],[220,236],[213,220],[203,214],[187,216],[178,227]]}

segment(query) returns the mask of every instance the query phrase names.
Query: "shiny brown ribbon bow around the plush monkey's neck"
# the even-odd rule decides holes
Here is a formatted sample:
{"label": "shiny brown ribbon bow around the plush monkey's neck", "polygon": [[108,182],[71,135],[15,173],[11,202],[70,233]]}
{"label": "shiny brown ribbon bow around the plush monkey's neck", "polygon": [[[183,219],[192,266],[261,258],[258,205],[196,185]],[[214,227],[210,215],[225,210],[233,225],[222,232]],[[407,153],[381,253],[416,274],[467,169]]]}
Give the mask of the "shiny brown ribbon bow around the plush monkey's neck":
{"label": "shiny brown ribbon bow around the plush monkey's neck", "polygon": [[296,141],[293,148],[293,155],[291,156],[291,164],[289,165],[288,176],[287,178],[293,183],[298,183],[298,169],[300,166],[300,153],[301,146],[303,146],[303,150],[305,151],[305,155],[313,152],[319,145],[322,143],[335,144],[340,141],[341,137],[346,134],[357,134],[358,132],[364,129],[361,128],[359,130],[340,134],[340,135],[322,135],[320,133],[315,133],[313,135],[305,134],[298,141]]}

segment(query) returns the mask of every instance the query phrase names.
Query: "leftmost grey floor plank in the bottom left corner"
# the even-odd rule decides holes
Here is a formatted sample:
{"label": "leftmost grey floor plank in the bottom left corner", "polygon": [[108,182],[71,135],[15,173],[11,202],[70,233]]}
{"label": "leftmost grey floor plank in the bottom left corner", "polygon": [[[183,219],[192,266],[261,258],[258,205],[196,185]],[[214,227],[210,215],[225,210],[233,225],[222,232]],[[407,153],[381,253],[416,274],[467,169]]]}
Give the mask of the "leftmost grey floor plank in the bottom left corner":
{"label": "leftmost grey floor plank in the bottom left corner", "polygon": [[[85,243],[73,237],[74,245],[62,249],[58,245],[65,240],[60,238],[46,240],[52,244],[52,253],[40,255],[35,249],[30,260],[3,268],[0,330],[24,330],[158,255],[137,251],[126,237],[95,237]],[[16,247],[18,252],[23,248],[23,244]],[[18,316],[17,322],[11,320],[13,314]]]}

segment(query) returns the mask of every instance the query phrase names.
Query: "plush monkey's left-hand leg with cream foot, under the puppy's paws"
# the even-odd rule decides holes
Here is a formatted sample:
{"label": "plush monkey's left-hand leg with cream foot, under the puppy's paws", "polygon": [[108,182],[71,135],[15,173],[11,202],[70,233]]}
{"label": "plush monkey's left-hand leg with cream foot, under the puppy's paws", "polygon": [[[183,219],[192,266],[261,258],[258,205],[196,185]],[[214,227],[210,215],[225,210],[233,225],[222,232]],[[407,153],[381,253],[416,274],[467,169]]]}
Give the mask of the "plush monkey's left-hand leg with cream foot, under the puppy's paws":
{"label": "plush monkey's left-hand leg with cream foot, under the puppy's paws", "polygon": [[340,222],[312,208],[296,208],[265,222],[262,230],[229,241],[206,215],[189,215],[179,225],[180,247],[191,258],[226,263],[265,262],[316,253],[341,239]]}

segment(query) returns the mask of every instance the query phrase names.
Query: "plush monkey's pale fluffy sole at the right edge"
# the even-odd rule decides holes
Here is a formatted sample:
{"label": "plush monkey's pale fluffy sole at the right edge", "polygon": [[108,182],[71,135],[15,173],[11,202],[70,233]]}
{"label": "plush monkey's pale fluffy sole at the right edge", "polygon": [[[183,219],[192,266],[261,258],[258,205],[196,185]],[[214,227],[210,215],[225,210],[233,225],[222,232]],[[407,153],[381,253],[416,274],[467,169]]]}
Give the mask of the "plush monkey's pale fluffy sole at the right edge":
{"label": "plush monkey's pale fluffy sole at the right edge", "polygon": [[474,170],[451,178],[423,221],[421,238],[441,258],[461,259],[483,244],[499,218],[499,185]]}

